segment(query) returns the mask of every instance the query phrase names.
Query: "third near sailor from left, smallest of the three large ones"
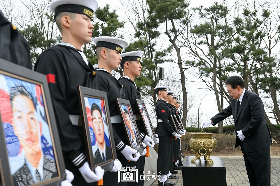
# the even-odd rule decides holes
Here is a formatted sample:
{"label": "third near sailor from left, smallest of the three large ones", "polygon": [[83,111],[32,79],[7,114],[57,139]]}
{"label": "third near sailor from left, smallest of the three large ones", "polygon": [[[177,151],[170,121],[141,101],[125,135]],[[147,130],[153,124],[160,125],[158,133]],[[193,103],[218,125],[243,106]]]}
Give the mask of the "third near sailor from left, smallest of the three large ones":
{"label": "third near sailor from left, smallest of the three large ones", "polygon": [[[139,116],[139,111],[137,109],[136,99],[141,100],[141,93],[140,89],[136,86],[134,83],[135,77],[140,76],[141,74],[141,57],[143,55],[143,51],[133,51],[133,52],[126,52],[123,54],[120,54],[122,57],[122,61],[120,63],[122,70],[123,70],[123,76],[120,77],[119,82],[123,85],[125,88],[125,93],[127,96],[127,100],[129,100],[132,111],[134,114],[134,119],[136,121],[136,125],[139,130],[139,135],[141,138],[141,141],[143,141],[144,144],[148,147],[154,147],[155,142],[153,139],[151,139],[148,134],[143,133],[145,132],[144,123],[141,121]],[[136,186],[136,185],[144,185],[144,179],[141,179],[141,177],[145,176],[142,171],[145,169],[145,156],[140,156],[139,160],[137,162],[130,161],[128,163],[128,166],[136,166],[136,169],[138,169],[138,183],[135,182],[128,182],[127,186]]]}

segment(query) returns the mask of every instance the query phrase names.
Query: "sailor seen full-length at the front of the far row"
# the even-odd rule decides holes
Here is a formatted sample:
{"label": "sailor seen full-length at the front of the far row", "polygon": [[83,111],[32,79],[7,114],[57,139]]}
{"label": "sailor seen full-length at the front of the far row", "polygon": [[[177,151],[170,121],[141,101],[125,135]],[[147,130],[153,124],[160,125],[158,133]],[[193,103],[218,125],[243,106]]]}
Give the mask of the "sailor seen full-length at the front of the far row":
{"label": "sailor seen full-length at the front of the far row", "polygon": [[166,102],[167,88],[168,86],[155,87],[155,93],[158,96],[155,105],[155,113],[157,116],[157,128],[155,132],[160,139],[158,144],[157,174],[162,176],[162,179],[159,179],[157,185],[175,184],[167,178],[171,158],[171,137],[172,135],[176,135],[178,138],[180,137],[170,123],[170,104]]}

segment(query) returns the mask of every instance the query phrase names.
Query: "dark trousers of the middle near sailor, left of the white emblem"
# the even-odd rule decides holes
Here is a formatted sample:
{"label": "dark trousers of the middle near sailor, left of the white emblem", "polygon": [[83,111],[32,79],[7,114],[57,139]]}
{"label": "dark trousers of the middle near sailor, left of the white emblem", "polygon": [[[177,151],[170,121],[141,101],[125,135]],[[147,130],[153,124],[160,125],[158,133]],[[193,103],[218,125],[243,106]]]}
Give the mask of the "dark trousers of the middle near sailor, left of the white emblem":
{"label": "dark trousers of the middle near sailor, left of the white emblem", "polygon": [[[118,160],[122,163],[122,166],[128,166],[128,160],[124,157],[124,155],[117,150],[117,157]],[[127,167],[128,169],[128,167]],[[103,176],[103,185],[104,186],[127,186],[127,182],[118,183],[118,171],[117,172],[110,172],[107,171],[104,173]]]}

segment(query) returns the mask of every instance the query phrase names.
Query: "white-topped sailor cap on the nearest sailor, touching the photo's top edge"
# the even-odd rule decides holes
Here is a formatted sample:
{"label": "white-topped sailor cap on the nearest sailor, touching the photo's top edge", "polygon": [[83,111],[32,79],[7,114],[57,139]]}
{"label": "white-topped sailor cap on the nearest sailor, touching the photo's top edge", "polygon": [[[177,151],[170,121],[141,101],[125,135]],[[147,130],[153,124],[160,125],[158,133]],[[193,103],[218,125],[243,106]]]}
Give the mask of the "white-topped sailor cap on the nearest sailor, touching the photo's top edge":
{"label": "white-topped sailor cap on the nearest sailor, touching the photo's top edge", "polygon": [[91,20],[97,8],[96,0],[54,0],[50,3],[50,10],[54,14],[59,12],[78,13],[88,16]]}

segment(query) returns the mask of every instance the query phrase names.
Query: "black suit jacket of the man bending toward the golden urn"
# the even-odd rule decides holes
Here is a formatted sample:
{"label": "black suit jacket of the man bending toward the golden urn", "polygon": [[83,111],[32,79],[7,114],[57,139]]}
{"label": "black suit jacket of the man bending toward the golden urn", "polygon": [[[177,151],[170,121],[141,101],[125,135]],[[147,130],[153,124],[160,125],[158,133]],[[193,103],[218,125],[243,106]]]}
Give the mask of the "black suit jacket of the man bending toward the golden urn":
{"label": "black suit jacket of the man bending toward the golden urn", "polygon": [[247,89],[244,89],[244,97],[237,111],[237,100],[233,99],[230,105],[216,114],[211,120],[216,125],[228,116],[233,116],[235,132],[242,130],[245,139],[241,141],[236,135],[235,148],[241,143],[247,152],[254,152],[270,146],[271,139],[268,126],[265,121],[265,112],[260,97]]}

